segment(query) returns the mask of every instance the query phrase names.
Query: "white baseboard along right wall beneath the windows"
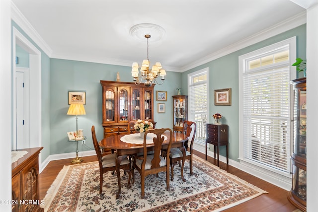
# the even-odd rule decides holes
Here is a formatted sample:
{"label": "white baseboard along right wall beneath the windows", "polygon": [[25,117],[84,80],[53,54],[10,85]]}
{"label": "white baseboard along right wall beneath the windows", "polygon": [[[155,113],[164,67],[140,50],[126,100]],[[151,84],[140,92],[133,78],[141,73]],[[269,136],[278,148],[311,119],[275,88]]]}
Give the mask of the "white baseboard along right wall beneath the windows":
{"label": "white baseboard along right wall beneath the windows", "polygon": [[[212,146],[212,145],[211,145]],[[202,144],[193,144],[193,149],[205,154],[205,145]],[[211,151],[208,148],[207,151],[207,155],[214,158],[214,152]],[[225,156],[220,155],[219,158],[220,161],[226,163],[227,162],[227,158]],[[255,177],[258,177],[262,180],[265,180],[268,183],[271,183],[275,186],[278,186],[282,189],[285,189],[286,191],[291,190],[292,188],[292,179],[268,170],[265,170],[263,168],[260,168],[258,166],[252,165],[250,163],[246,163],[246,162],[238,162],[235,160],[232,160],[229,158],[229,165],[238,168],[239,170],[242,170],[248,174],[251,174]]]}

